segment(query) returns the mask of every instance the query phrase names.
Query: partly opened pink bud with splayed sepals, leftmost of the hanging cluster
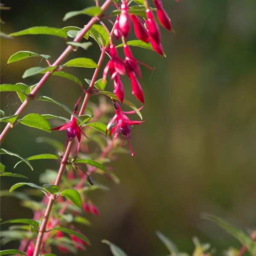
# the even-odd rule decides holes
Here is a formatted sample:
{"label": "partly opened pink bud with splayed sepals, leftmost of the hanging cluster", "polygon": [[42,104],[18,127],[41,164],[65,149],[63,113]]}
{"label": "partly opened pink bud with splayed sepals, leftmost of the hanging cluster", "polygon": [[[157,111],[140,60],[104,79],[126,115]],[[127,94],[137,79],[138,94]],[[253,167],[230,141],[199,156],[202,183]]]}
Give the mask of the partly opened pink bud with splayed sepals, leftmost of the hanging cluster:
{"label": "partly opened pink bud with splayed sepals, leftmost of the hanging cluster", "polygon": [[118,73],[122,76],[125,75],[125,64],[123,60],[118,56],[116,47],[113,44],[109,47],[109,55],[111,60],[108,61],[103,70],[103,82],[107,78],[108,71],[111,75],[111,79],[114,79]]}

